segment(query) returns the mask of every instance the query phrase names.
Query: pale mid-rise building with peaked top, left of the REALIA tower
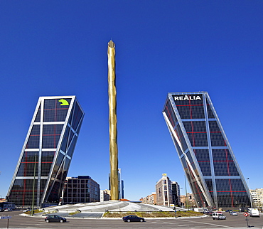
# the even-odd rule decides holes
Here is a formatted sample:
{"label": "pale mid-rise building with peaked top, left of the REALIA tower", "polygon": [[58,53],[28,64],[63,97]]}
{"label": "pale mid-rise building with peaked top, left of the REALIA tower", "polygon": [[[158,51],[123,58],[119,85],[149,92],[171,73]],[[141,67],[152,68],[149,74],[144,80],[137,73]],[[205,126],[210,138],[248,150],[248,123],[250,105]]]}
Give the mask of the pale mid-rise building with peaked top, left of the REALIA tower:
{"label": "pale mid-rise building with peaked top, left of the REALIA tower", "polygon": [[170,206],[173,203],[171,181],[166,174],[156,183],[156,204]]}

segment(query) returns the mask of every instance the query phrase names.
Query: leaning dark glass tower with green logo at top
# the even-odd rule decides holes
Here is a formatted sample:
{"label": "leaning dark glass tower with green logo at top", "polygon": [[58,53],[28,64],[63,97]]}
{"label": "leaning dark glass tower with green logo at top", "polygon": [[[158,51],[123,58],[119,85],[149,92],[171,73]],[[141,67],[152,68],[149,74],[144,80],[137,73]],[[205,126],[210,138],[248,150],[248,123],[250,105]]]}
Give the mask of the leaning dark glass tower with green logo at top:
{"label": "leaning dark glass tower with green logo at top", "polygon": [[7,194],[10,202],[58,203],[83,117],[75,96],[39,97]]}

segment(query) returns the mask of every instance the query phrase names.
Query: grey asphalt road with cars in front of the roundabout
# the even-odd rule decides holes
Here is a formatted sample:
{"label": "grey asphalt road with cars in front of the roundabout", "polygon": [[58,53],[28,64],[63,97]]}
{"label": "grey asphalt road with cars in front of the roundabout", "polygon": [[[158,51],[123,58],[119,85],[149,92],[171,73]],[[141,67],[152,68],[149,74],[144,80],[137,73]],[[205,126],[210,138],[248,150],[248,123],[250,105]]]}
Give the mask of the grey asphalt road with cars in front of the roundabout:
{"label": "grey asphalt road with cars in front of the roundabout", "polygon": [[[19,215],[21,211],[1,212],[0,215],[10,215],[9,229],[11,228],[247,228],[247,221],[242,213],[227,215],[227,220],[213,220],[205,218],[171,218],[171,219],[147,219],[144,223],[124,223],[122,219],[74,219],[67,218],[67,223],[45,223],[44,218],[24,217]],[[248,217],[248,225],[252,228],[263,226],[263,215],[260,218]],[[7,228],[7,220],[0,220],[0,228]]]}

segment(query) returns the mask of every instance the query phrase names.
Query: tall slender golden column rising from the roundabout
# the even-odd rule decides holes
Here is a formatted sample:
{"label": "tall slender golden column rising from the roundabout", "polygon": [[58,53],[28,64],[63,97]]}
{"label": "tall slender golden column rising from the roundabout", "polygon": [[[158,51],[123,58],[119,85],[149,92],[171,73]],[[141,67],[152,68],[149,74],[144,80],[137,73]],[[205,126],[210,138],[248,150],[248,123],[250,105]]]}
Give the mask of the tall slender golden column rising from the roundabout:
{"label": "tall slender golden column rising from the roundabout", "polygon": [[109,164],[110,195],[112,201],[119,200],[118,146],[117,146],[117,100],[115,78],[115,44],[108,43],[108,92],[109,92]]}

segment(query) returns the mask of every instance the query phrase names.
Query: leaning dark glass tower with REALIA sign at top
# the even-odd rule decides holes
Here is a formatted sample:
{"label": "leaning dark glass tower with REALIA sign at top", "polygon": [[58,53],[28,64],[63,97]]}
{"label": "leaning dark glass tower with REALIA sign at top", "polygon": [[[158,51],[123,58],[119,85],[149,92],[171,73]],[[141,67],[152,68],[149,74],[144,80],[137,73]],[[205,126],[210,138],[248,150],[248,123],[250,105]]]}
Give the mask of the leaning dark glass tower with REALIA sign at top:
{"label": "leaning dark glass tower with REALIA sign at top", "polygon": [[247,183],[208,92],[168,93],[163,117],[198,206],[250,206]]}

